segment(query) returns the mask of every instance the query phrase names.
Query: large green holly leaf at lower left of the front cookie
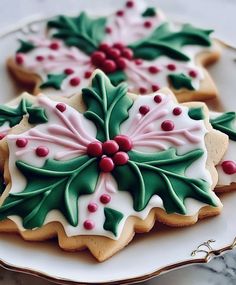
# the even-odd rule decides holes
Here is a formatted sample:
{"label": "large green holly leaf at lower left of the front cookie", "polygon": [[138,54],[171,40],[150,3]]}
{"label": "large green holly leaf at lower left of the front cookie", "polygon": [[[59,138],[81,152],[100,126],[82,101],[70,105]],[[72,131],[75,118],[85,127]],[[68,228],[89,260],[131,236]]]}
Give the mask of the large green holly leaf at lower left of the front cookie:
{"label": "large green holly leaf at lower left of the front cookie", "polygon": [[78,225],[78,199],[96,188],[99,175],[96,158],[48,159],[42,167],[17,161],[16,166],[27,185],[22,192],[10,193],[4,200],[0,220],[19,215],[23,226],[33,229],[42,226],[48,212],[57,209],[71,225]]}

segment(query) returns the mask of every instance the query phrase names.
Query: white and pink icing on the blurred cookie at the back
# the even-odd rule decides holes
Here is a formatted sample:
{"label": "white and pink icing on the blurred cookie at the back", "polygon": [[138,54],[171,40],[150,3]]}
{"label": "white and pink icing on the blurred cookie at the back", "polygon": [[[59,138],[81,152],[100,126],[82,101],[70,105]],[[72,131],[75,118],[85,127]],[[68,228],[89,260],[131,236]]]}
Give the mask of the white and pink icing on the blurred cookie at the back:
{"label": "white and pink icing on the blurred cookie at the back", "polygon": [[[136,3],[135,3],[136,4]],[[139,5],[137,5],[139,6]],[[142,5],[141,5],[142,6]],[[150,35],[151,31],[166,21],[162,12],[157,10],[155,17],[142,17],[140,7],[125,8],[124,16],[117,17],[113,14],[107,18],[107,26],[112,29],[111,34],[107,34],[104,42],[114,44],[116,42],[123,42],[125,44],[133,43],[145,36]],[[150,21],[152,26],[145,28],[143,23]],[[172,25],[172,29],[178,31],[181,28],[180,25]],[[78,93],[82,88],[88,85],[88,79],[85,78],[84,73],[86,71],[93,71],[96,67],[90,62],[90,57],[79,51],[75,47],[67,47],[63,41],[56,40],[60,44],[59,50],[51,50],[48,48],[52,41],[49,35],[33,36],[30,39],[37,48],[24,54],[24,68],[30,70],[33,73],[38,74],[44,82],[48,73],[62,73],[65,68],[73,68],[74,73],[69,75],[62,83],[61,90],[55,90],[53,88],[46,88],[43,91],[46,94],[60,94],[63,96],[71,96]],[[135,61],[127,61],[127,67],[124,72],[127,75],[127,83],[129,89],[133,93],[139,93],[140,88],[145,88],[147,92],[152,92],[152,85],[158,85],[159,87],[165,87],[169,85],[168,75],[172,73],[183,73],[189,76],[189,72],[194,70],[197,72],[196,78],[192,78],[193,87],[197,90],[204,79],[203,70],[200,66],[197,66],[195,57],[199,52],[209,50],[209,48],[201,46],[185,46],[182,51],[189,56],[190,60],[187,62],[177,61],[168,58],[167,56],[160,56],[155,60],[146,61],[143,60],[141,65],[136,65]],[[42,62],[36,61],[36,56],[42,55],[45,60]],[[54,56],[53,60],[49,60],[48,57]],[[175,71],[167,69],[168,64],[174,64],[176,66]],[[152,74],[148,71],[150,66],[155,66],[160,69],[157,74]],[[70,85],[70,79],[73,77],[79,77],[81,82],[78,86],[73,87]]]}

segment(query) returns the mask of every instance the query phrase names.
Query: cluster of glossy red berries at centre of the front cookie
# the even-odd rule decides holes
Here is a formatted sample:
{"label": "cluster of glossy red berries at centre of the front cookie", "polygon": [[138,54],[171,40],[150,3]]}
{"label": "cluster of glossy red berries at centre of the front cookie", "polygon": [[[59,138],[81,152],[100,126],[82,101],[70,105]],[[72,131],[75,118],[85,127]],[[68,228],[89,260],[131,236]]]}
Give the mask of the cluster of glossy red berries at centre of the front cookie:
{"label": "cluster of glossy red berries at centre of the front cookie", "polygon": [[104,143],[91,142],[87,146],[87,154],[92,157],[100,157],[99,167],[103,172],[111,172],[116,165],[124,165],[129,160],[128,151],[132,149],[130,138],[118,135],[114,140]]}

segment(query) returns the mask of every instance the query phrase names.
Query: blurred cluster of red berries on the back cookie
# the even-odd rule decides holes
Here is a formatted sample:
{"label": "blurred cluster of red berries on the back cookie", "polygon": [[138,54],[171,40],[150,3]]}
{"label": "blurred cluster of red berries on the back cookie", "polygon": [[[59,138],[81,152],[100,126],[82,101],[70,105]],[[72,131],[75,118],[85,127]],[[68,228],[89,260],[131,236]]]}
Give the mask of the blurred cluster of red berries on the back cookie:
{"label": "blurred cluster of red berries on the back cookie", "polygon": [[127,66],[127,60],[133,58],[133,51],[122,43],[115,43],[110,46],[102,43],[99,50],[91,55],[91,62],[96,67],[106,73],[112,73],[116,70],[123,70]]}

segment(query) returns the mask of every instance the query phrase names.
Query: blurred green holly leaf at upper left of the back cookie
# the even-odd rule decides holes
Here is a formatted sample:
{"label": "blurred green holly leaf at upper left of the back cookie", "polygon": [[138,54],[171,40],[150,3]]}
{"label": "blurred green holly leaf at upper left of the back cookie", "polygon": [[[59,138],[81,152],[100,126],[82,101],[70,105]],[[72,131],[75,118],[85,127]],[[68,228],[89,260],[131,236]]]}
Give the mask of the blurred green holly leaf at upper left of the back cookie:
{"label": "blurred green holly leaf at upper left of the back cookie", "polygon": [[76,46],[86,54],[98,49],[105,37],[106,18],[91,19],[82,12],[78,17],[59,16],[48,22],[49,28],[57,29],[54,38],[62,39],[68,46]]}

